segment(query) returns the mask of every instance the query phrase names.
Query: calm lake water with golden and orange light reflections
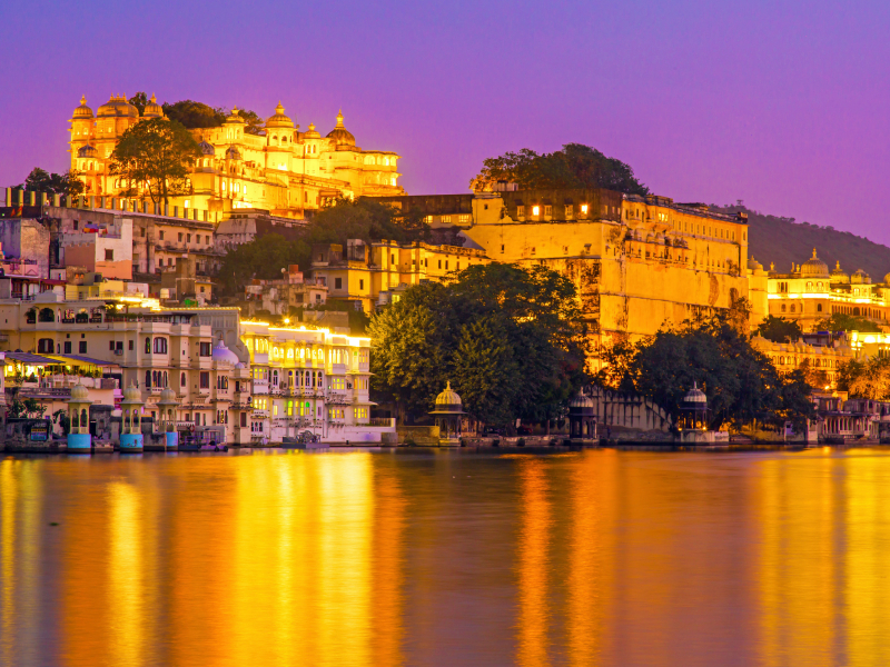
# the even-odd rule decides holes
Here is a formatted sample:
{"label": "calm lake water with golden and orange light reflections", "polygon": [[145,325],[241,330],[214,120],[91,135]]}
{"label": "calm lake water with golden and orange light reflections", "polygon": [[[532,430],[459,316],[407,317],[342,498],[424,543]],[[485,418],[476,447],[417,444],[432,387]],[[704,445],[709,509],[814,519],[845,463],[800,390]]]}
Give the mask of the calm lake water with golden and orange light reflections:
{"label": "calm lake water with golden and orange light reflections", "polygon": [[889,665],[888,633],[882,449],[0,458],[3,666]]}

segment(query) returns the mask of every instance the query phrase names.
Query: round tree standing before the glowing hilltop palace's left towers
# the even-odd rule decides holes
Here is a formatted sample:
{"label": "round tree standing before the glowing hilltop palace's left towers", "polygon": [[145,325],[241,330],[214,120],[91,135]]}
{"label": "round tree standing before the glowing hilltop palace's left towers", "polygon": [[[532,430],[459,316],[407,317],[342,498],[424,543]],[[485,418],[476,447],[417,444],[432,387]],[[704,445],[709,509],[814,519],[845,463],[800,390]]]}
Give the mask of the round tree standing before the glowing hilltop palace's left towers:
{"label": "round tree standing before the glowing hilltop palace's left towers", "polygon": [[188,175],[200,153],[191,133],[175,120],[150,118],[123,132],[111,153],[109,173],[126,183],[126,197],[147,193],[155,203],[190,195]]}

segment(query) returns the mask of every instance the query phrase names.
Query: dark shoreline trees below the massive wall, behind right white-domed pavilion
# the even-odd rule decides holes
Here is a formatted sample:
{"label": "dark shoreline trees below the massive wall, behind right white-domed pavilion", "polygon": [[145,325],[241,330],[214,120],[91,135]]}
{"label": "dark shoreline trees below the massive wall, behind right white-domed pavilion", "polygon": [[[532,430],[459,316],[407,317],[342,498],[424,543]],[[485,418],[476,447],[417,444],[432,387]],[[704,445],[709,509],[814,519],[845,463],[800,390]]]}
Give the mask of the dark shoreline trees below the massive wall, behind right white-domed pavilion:
{"label": "dark shoreline trees below the massive wall, behind right white-domed pavilion", "polygon": [[729,312],[616,346],[605,361],[614,368],[597,374],[600,384],[651,398],[674,418],[683,396],[698,382],[708,396],[715,429],[728,421],[741,428],[791,420],[801,427],[813,415],[804,374],[779,374]]}

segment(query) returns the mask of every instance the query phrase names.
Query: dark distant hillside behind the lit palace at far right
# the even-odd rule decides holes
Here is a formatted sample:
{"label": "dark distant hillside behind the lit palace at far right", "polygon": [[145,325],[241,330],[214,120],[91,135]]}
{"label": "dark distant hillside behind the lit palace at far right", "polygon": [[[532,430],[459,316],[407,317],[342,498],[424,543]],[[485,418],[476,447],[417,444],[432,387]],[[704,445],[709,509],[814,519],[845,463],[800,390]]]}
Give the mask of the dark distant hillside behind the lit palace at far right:
{"label": "dark distant hillside behind the lit palace at far right", "polygon": [[890,248],[858,237],[849,231],[839,231],[832,227],[819,227],[809,222],[795,222],[793,218],[778,218],[745,207],[711,207],[723,212],[748,212],[749,256],[769,270],[770,262],[775,262],[775,270],[788,273],[791,262],[803,263],[815,248],[819,258],[834,268],[840,261],[848,273],[863,269],[872,282],[883,282],[890,273]]}

